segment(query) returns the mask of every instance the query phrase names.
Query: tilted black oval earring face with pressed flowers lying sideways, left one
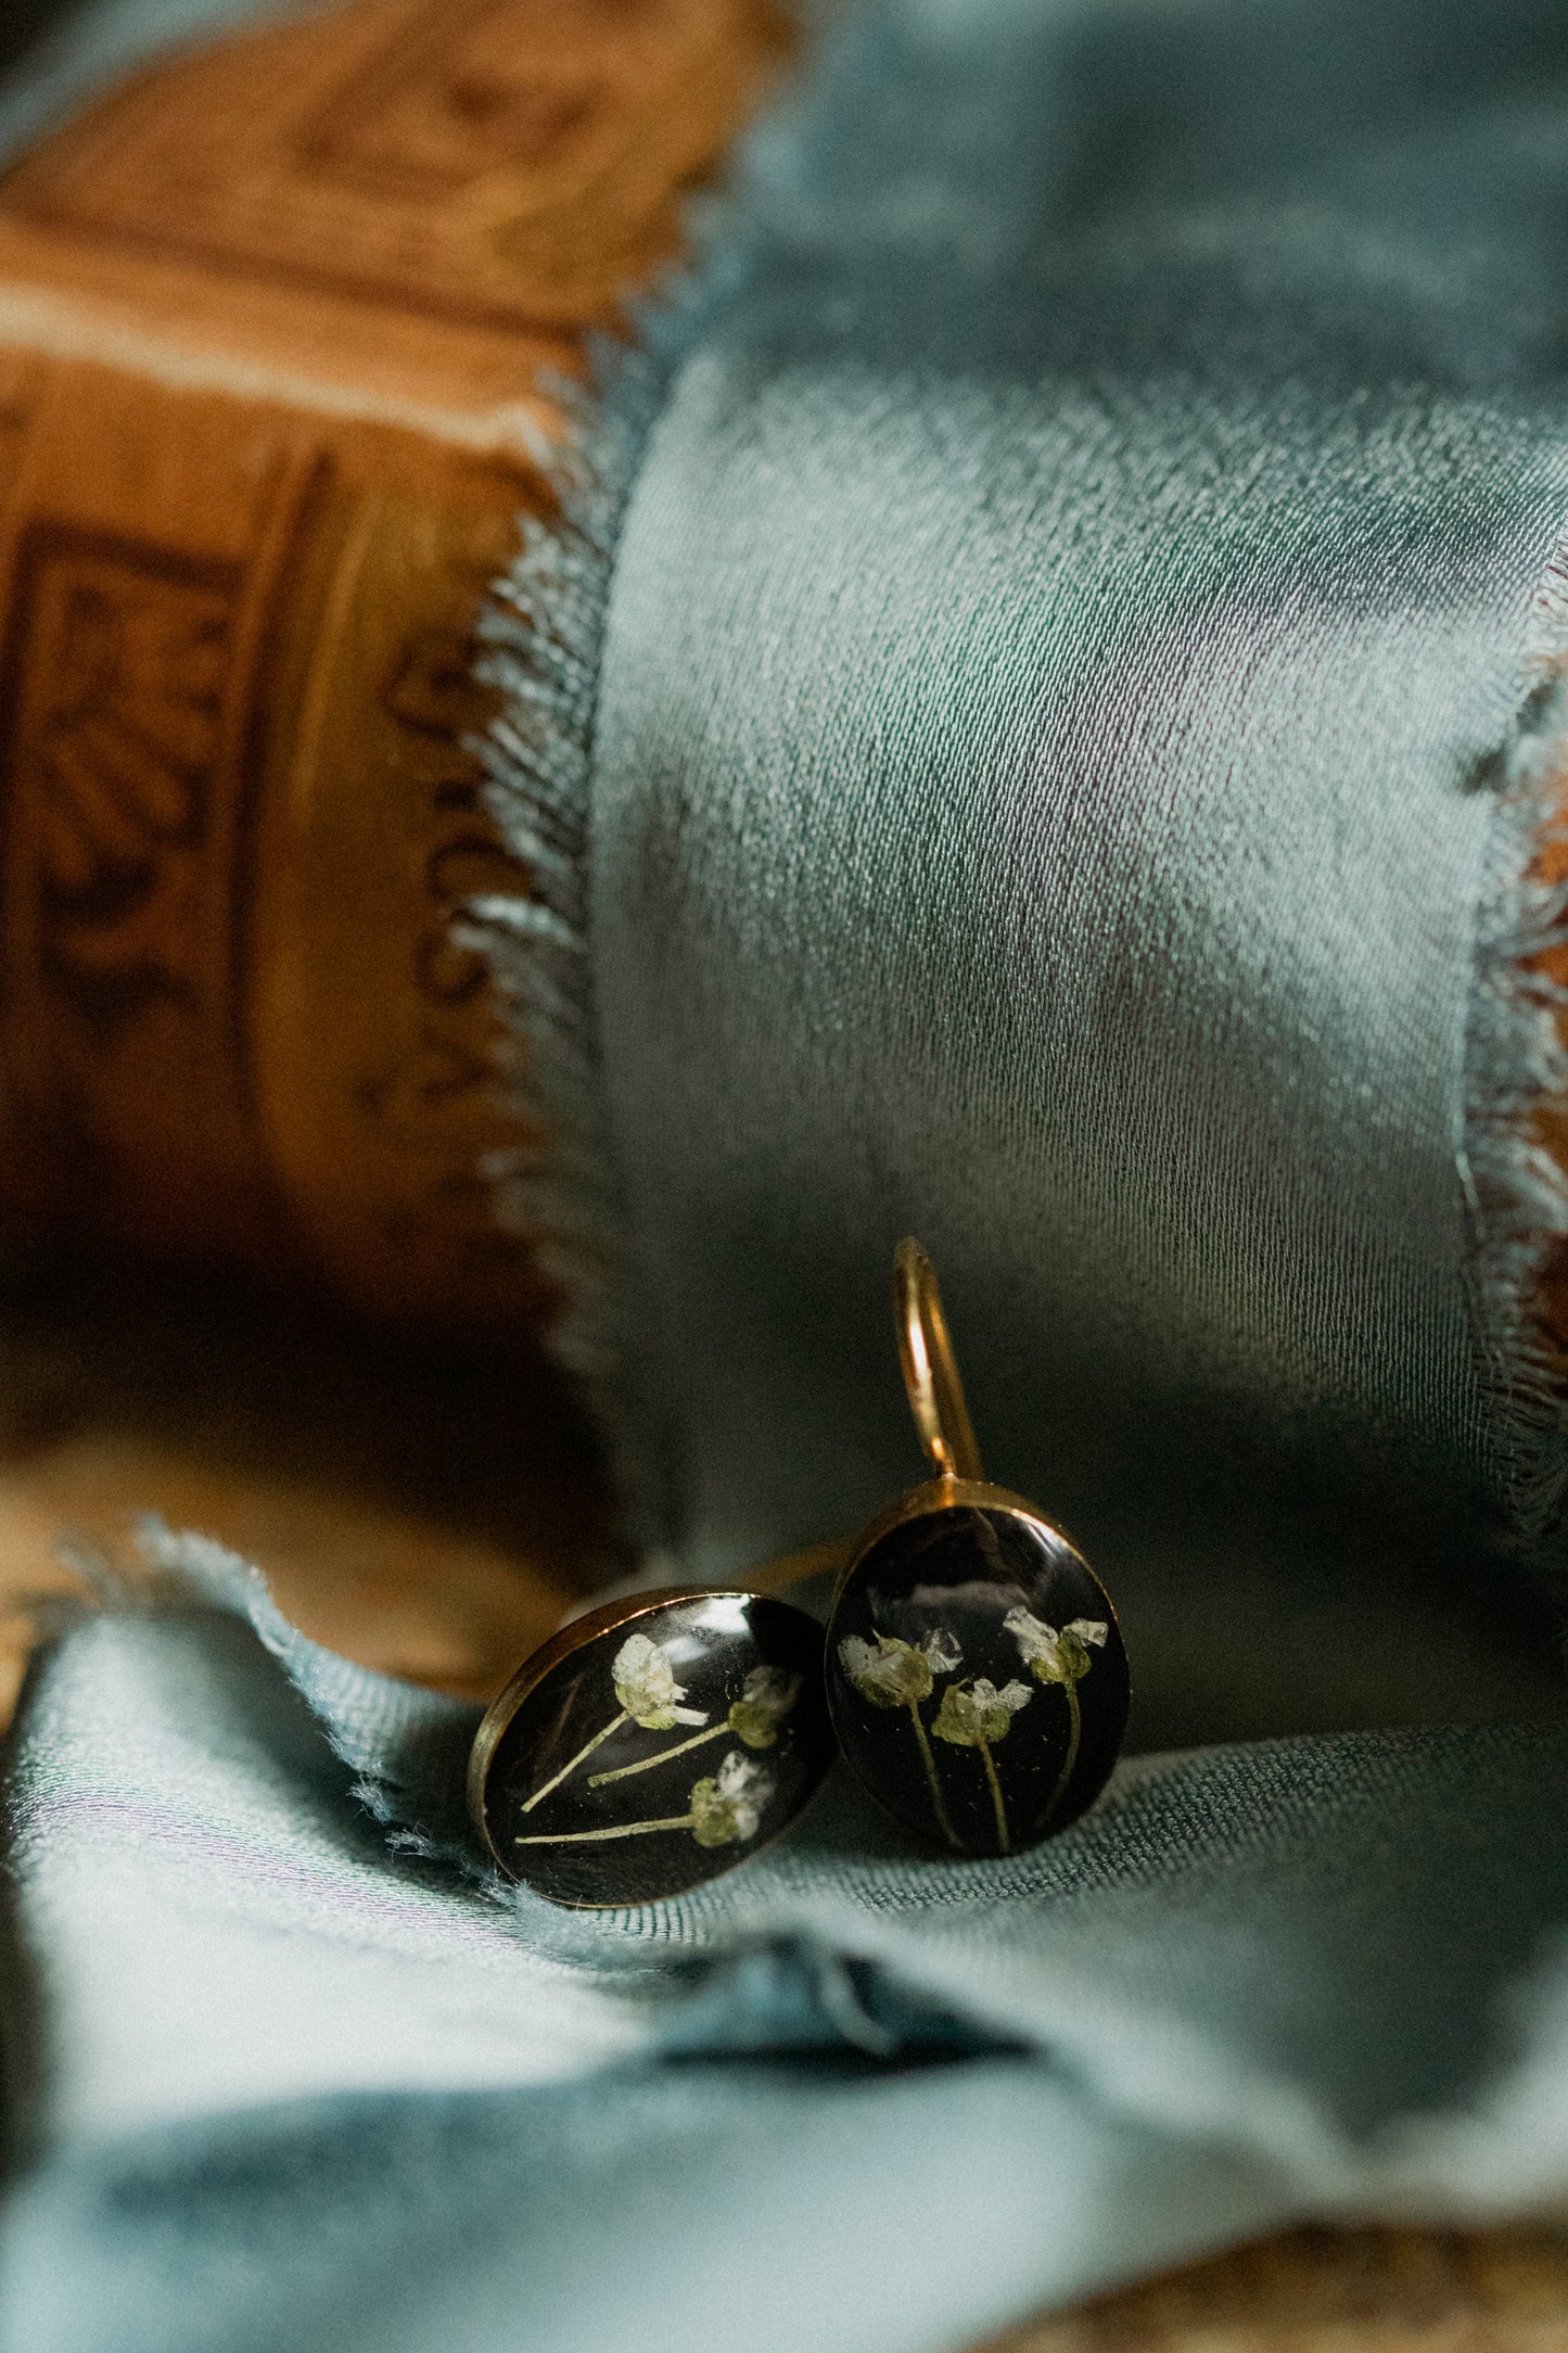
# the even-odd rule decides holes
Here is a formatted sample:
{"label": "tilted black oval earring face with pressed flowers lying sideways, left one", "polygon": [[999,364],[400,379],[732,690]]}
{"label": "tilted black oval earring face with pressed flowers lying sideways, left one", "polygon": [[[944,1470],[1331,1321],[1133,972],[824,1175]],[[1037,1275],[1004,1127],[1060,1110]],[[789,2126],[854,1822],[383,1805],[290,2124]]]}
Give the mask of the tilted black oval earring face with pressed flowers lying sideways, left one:
{"label": "tilted black oval earring face with pressed flowers lying sideways, left one", "polygon": [[524,1694],[484,1777],[484,1828],[555,1904],[651,1904],[776,1838],[832,1755],[823,1628],[804,1609],[759,1593],[628,1605]]}

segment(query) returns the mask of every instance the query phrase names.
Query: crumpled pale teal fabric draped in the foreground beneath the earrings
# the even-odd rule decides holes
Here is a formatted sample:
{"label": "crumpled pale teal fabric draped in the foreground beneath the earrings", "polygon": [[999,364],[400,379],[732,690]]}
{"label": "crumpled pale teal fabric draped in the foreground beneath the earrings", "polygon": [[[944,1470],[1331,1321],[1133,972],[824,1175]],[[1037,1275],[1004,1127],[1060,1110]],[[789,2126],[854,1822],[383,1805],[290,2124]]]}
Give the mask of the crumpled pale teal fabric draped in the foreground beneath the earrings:
{"label": "crumpled pale teal fabric draped in the foreground beneath the earrings", "polygon": [[428,1694],[153,1553],[165,1609],[71,1631],[9,1758],[7,2353],[719,2353],[741,2311],[947,2353],[1302,2217],[1568,2195],[1561,1725],[1145,1758],[997,1864],[837,1781],[571,1915],[433,1847]]}

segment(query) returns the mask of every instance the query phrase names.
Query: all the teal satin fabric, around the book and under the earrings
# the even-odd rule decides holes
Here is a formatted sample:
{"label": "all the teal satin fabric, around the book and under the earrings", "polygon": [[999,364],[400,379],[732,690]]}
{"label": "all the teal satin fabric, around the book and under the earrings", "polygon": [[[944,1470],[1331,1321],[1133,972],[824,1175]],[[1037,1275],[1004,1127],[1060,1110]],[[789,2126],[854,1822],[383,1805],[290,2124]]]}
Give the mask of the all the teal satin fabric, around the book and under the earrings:
{"label": "all the teal satin fabric, around the book and under the earrings", "polygon": [[1549,0],[825,12],[491,605],[484,1174],[712,1574],[914,1475],[917,1231],[1206,1746],[574,1920],[473,1711],[160,1539],[9,1751],[0,2344],[940,2353],[1568,2195],[1566,132]]}

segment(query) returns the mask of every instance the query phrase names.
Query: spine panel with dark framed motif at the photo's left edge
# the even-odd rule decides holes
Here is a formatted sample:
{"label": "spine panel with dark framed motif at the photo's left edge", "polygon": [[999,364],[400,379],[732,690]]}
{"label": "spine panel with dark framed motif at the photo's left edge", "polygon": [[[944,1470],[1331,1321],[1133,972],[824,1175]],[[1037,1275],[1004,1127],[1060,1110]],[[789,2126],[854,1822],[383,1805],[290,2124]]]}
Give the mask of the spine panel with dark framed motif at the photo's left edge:
{"label": "spine panel with dark framed motif at the photo's left edge", "polygon": [[193,529],[125,466],[167,412],[38,372],[0,534],[0,1179],[42,1226],[275,1249],[233,901],[301,471],[223,405]]}

